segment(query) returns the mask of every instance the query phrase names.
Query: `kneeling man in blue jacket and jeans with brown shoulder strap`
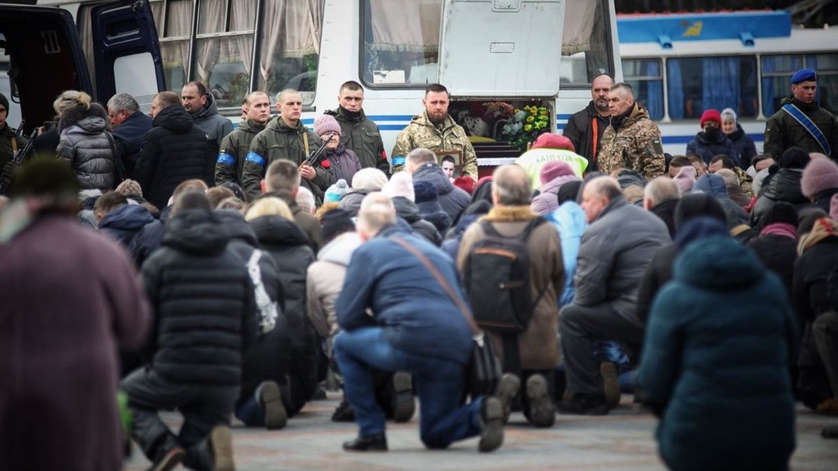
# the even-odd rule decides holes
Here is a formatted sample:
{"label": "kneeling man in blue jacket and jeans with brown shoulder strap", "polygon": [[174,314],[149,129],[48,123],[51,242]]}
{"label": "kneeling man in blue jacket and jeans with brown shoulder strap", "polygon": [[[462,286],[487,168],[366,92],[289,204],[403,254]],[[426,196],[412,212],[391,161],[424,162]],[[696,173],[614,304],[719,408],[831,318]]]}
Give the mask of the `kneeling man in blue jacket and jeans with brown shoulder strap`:
{"label": "kneeling man in blue jacket and jeans with brown shoulder strap", "polygon": [[[385,414],[375,403],[373,370],[404,370],[413,375],[422,406],[421,437],[428,448],[480,435],[478,448],[489,452],[503,443],[503,406],[495,397],[460,405],[463,366],[473,340],[465,313],[432,273],[444,277],[459,300],[465,294],[457,270],[442,251],[396,229],[390,199],[371,194],[361,206],[358,230],[365,241],[354,251],[344,289],[336,303],[343,332],[334,338],[334,355],[344,375],[344,394],[355,411],[359,435],[344,443],[348,451],[385,451]],[[414,255],[398,237],[427,259]],[[370,315],[371,313],[371,315]]]}

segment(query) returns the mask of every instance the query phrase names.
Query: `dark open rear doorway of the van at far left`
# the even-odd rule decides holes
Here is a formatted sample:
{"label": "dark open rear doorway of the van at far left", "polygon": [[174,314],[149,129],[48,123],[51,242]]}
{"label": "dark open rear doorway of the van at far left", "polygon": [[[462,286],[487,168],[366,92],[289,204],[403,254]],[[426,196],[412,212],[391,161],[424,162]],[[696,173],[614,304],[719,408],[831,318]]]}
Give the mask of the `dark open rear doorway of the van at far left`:
{"label": "dark open rear doorway of the van at far left", "polygon": [[0,4],[0,48],[8,55],[12,96],[25,132],[52,120],[52,103],[65,90],[91,92],[85,54],[66,10]]}

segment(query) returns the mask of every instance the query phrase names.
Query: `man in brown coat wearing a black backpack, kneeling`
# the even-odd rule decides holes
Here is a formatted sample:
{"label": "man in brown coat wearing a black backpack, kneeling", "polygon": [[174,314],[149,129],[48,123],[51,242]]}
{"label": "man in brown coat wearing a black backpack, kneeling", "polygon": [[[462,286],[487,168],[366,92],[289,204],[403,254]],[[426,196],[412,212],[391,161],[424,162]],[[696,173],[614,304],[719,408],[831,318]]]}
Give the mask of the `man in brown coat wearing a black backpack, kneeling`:
{"label": "man in brown coat wearing a black backpack, kneeling", "polygon": [[[553,370],[559,365],[557,298],[564,284],[556,229],[530,210],[530,177],[518,165],[494,171],[489,214],[463,235],[457,266],[474,319],[503,346],[498,392],[508,417],[520,391],[524,414],[536,427],[556,420]],[[514,375],[520,380],[510,380]]]}

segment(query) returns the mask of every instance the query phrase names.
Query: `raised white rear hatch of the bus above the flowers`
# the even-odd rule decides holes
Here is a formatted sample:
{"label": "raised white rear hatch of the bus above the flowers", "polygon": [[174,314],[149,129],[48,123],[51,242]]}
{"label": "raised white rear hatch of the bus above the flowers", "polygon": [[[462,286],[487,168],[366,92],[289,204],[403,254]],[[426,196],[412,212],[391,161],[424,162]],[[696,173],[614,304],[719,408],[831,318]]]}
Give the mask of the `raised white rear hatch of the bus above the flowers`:
{"label": "raised white rear hatch of the bus above the flowers", "polygon": [[453,96],[556,96],[565,0],[446,0],[439,82]]}

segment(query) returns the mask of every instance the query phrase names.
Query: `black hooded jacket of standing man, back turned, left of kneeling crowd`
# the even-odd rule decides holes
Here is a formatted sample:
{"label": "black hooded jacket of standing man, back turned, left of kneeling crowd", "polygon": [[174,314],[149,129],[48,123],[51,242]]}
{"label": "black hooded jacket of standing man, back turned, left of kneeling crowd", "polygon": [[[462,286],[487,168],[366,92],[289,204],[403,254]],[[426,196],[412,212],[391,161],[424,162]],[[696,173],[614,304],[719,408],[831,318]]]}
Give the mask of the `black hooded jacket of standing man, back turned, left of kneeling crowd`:
{"label": "black hooded jacket of standing man, back turned, left of kneeling crowd", "polygon": [[163,210],[178,184],[203,179],[207,160],[215,165],[207,135],[194,125],[183,106],[168,106],[154,117],[142,140],[134,179],[142,197]]}

